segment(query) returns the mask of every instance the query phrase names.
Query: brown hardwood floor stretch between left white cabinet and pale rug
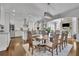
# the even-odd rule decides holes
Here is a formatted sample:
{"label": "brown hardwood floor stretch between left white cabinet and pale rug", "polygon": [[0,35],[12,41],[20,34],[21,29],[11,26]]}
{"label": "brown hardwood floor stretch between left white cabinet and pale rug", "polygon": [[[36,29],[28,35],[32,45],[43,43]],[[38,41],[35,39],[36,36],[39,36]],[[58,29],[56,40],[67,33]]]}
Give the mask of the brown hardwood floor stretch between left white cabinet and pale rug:
{"label": "brown hardwood floor stretch between left white cabinet and pale rug", "polygon": [[12,38],[9,47],[5,51],[0,51],[0,56],[24,56],[26,54],[22,47],[21,37]]}

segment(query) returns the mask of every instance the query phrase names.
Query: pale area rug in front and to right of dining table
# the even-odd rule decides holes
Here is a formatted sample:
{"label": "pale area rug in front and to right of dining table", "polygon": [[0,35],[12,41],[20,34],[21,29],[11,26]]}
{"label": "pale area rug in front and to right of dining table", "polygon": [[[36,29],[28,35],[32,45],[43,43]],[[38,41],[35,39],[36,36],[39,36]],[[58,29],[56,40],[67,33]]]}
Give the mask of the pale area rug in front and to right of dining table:
{"label": "pale area rug in front and to right of dining table", "polygon": [[[72,47],[73,46],[71,44],[68,44],[61,52],[59,52],[58,50],[58,55],[56,55],[56,52],[54,50],[53,56],[67,56]],[[50,53],[48,50],[44,52],[44,50],[42,49],[41,51],[35,51],[33,56],[52,56],[52,53]]]}

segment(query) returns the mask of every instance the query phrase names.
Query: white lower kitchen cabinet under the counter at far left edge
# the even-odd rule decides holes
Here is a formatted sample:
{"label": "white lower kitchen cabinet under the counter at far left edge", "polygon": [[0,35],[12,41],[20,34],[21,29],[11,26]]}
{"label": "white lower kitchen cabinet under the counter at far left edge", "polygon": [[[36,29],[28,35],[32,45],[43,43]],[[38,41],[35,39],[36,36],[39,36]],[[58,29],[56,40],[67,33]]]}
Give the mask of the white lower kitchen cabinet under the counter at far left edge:
{"label": "white lower kitchen cabinet under the counter at far left edge", "polygon": [[10,34],[0,32],[0,51],[6,50],[10,43]]}

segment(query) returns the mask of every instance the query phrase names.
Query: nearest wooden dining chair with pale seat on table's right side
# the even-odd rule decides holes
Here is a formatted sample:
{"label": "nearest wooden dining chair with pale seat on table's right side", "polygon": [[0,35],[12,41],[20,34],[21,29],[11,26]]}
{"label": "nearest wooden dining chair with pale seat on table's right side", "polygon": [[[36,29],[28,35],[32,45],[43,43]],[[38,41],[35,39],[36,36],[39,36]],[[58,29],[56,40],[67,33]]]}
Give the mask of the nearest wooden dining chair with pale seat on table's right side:
{"label": "nearest wooden dining chair with pale seat on table's right side", "polygon": [[59,38],[59,34],[55,34],[55,36],[53,36],[53,41],[49,42],[48,44],[46,44],[46,47],[49,48],[48,50],[52,53],[53,56],[53,51],[56,49],[56,54],[58,55],[58,38]]}

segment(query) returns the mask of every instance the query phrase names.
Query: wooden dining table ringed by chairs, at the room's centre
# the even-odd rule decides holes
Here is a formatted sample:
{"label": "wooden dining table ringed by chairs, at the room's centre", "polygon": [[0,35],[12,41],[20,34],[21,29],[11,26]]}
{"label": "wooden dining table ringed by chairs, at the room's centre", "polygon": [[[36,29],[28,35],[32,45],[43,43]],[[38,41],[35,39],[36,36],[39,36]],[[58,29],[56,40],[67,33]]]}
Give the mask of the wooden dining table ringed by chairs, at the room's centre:
{"label": "wooden dining table ringed by chairs, at the room's centre", "polygon": [[44,48],[46,51],[46,40],[48,40],[48,35],[33,35],[33,40],[36,40],[39,44],[38,44],[38,47],[39,47],[39,52],[40,52],[40,49],[41,47]]}

